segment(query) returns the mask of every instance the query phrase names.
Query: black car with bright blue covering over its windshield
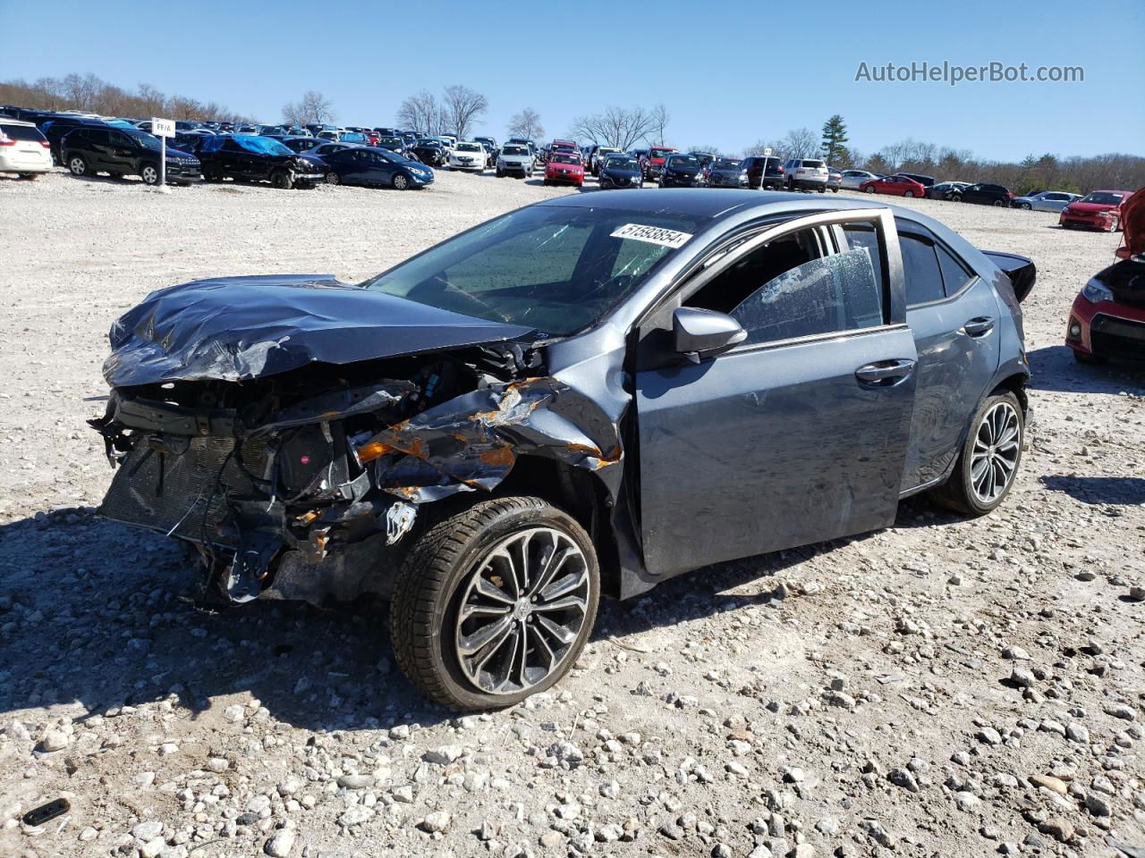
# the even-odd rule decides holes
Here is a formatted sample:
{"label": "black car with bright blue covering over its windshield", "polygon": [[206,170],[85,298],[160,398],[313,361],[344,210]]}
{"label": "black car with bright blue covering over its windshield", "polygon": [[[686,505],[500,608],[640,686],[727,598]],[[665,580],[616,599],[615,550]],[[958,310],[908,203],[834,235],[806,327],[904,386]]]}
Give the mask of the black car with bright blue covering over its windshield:
{"label": "black car with bright blue covering over its windshield", "polygon": [[330,172],[321,158],[298,154],[279,141],[246,134],[220,134],[199,146],[203,177],[270,182],[275,188],[314,188]]}

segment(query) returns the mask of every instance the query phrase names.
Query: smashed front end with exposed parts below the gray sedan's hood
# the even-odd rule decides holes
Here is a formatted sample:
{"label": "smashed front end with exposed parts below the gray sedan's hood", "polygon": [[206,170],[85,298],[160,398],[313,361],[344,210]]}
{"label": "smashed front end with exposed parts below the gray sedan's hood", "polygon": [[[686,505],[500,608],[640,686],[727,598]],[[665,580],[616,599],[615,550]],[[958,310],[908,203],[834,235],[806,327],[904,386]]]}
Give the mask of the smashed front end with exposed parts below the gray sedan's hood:
{"label": "smashed front end with exposed parts below the gray sedan's hood", "polygon": [[90,421],[118,467],[100,513],[196,543],[231,602],[386,595],[419,505],[492,490],[527,453],[619,460],[615,427],[529,378],[539,363],[499,345],[117,388]]}

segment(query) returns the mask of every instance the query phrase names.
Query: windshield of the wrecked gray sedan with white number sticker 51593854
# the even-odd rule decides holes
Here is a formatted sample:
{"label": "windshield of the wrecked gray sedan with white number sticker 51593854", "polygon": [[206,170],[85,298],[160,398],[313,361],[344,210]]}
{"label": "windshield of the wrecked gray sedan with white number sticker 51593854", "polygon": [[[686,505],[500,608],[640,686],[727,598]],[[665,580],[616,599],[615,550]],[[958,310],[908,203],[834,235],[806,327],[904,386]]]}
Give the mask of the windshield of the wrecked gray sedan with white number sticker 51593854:
{"label": "windshield of the wrecked gray sedan with white number sticker 51593854", "polygon": [[692,235],[698,223],[677,214],[531,206],[362,285],[481,319],[568,335],[600,320],[678,249],[641,238],[640,231],[634,237],[611,233],[639,224],[652,232]]}

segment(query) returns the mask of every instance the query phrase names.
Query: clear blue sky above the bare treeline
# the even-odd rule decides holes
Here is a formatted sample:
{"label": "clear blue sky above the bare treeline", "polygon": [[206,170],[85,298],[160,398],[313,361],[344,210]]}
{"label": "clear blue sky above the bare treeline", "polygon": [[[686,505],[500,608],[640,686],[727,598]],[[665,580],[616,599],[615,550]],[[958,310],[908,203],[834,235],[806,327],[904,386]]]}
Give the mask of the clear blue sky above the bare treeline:
{"label": "clear blue sky above the bare treeline", "polygon": [[[498,140],[526,106],[540,113],[551,138],[606,105],[663,103],[669,142],[680,148],[740,152],[791,128],[818,134],[839,113],[848,144],[864,154],[913,137],[996,160],[1145,156],[1140,0],[103,0],[97,13],[90,0],[53,0],[46,9],[0,0],[0,80],[93,72],[270,122],[281,121],[283,104],[317,89],[334,103],[339,124],[371,127],[394,124],[406,95],[464,84],[489,100],[474,133]],[[856,80],[861,63],[875,78],[887,63],[924,62],[1026,63],[1029,74],[1081,66],[1084,80]]]}

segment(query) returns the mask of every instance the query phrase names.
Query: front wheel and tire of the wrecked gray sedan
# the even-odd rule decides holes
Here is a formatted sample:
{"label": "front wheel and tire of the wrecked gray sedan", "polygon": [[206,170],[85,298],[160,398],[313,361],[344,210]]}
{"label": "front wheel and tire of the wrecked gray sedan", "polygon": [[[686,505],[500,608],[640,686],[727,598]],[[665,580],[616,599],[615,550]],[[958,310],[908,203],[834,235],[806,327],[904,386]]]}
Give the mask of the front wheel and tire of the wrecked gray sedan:
{"label": "front wheel and tire of the wrecked gray sedan", "polygon": [[426,697],[512,706],[572,667],[597,618],[592,540],[538,498],[475,503],[413,546],[390,603],[394,656]]}

